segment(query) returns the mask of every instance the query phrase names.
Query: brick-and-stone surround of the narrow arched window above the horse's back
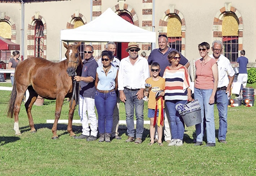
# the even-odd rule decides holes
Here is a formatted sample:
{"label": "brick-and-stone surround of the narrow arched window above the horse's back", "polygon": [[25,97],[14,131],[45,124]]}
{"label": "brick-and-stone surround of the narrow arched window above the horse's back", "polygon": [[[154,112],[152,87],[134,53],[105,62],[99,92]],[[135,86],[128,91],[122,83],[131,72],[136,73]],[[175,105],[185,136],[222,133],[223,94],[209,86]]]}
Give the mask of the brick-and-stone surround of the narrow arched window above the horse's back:
{"label": "brick-and-stone surround of the narrow arched window above the horse's back", "polygon": [[34,38],[35,38],[35,25],[37,21],[40,20],[42,21],[42,24],[44,24],[44,58],[46,59],[46,52],[47,52],[47,25],[46,25],[46,20],[39,15],[39,12],[35,12],[35,15],[32,16],[32,21],[28,25],[28,32],[27,32],[27,38],[28,38],[28,46],[27,46],[27,56],[29,57],[34,57]]}

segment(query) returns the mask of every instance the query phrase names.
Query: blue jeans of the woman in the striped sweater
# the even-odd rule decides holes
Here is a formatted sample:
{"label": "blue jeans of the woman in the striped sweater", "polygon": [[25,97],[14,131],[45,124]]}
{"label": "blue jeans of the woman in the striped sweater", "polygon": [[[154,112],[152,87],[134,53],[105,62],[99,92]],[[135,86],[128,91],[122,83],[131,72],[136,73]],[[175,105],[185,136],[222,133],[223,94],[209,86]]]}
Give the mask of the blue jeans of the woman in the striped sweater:
{"label": "blue jeans of the woman in the striped sweater", "polygon": [[185,104],[186,100],[166,100],[165,105],[169,112],[170,117],[170,132],[172,134],[172,139],[183,140],[184,136],[184,121],[180,116],[179,112],[176,110],[176,105]]}

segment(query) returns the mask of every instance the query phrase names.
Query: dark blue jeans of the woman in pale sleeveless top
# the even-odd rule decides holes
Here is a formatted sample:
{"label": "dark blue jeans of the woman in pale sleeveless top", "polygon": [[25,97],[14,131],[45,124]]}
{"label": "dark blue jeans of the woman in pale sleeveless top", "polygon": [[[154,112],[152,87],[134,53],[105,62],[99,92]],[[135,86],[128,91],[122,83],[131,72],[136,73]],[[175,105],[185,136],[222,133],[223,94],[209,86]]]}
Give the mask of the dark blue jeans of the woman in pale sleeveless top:
{"label": "dark blue jeans of the woman in pale sleeveless top", "polygon": [[113,113],[116,105],[116,92],[95,92],[95,106],[98,112],[99,133],[111,133]]}

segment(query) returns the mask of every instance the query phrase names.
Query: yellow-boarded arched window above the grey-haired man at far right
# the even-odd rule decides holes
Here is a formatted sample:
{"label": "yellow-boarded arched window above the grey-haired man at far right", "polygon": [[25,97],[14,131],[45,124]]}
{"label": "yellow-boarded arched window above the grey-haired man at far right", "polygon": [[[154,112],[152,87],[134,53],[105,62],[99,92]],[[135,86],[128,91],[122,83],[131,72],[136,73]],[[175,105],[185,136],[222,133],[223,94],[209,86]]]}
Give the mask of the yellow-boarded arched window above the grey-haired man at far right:
{"label": "yellow-boarded arched window above the grey-haired man at far right", "polygon": [[222,42],[224,45],[224,56],[230,62],[236,62],[238,58],[238,24],[237,15],[233,12],[225,14],[222,21]]}

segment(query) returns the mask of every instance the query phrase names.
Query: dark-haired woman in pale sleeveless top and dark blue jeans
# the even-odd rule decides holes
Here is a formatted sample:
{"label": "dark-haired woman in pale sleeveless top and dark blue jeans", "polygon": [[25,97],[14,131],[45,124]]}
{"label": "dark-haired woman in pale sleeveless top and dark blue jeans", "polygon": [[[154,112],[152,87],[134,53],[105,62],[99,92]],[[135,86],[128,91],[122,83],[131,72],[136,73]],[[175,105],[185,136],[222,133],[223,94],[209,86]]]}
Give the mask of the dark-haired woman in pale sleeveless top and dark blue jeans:
{"label": "dark-haired woman in pale sleeveless top and dark blue jeans", "polygon": [[102,66],[97,68],[95,79],[95,106],[98,112],[99,142],[110,142],[113,112],[116,105],[118,70],[111,65],[113,53],[101,53]]}

